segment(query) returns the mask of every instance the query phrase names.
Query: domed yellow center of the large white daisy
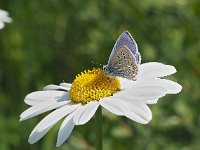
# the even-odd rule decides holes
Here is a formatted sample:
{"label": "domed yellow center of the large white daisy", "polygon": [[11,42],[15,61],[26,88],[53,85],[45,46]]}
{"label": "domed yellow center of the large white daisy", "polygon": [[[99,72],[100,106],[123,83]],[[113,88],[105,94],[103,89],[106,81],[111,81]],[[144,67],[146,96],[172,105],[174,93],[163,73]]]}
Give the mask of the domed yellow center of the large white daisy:
{"label": "domed yellow center of the large white daisy", "polygon": [[87,104],[111,96],[119,90],[119,80],[97,68],[78,74],[72,83],[69,95],[72,101]]}

